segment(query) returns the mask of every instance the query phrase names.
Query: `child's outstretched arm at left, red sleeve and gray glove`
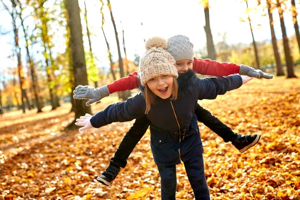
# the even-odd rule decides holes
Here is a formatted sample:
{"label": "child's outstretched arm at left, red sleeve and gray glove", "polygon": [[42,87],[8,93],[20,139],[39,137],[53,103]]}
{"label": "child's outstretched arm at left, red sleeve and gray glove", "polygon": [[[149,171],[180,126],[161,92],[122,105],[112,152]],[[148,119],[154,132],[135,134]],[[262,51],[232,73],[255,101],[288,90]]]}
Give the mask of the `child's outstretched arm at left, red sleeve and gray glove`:
{"label": "child's outstretched arm at left, red sleeve and gray glove", "polygon": [[101,100],[105,96],[116,91],[131,90],[138,87],[140,84],[137,72],[130,73],[127,77],[122,77],[114,80],[113,83],[94,88],[89,85],[78,85],[73,91],[73,98],[75,99],[89,99],[85,104],[90,105]]}

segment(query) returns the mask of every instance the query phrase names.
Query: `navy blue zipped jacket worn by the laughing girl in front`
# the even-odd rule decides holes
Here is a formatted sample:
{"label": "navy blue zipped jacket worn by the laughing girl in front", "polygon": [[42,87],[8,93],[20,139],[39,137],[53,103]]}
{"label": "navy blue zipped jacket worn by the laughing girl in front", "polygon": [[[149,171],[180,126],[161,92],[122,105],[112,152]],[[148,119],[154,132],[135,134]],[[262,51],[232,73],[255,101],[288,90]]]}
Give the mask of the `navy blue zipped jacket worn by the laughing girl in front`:
{"label": "navy blue zipped jacket worn by the laughing girl in front", "polygon": [[[160,166],[178,164],[180,160],[202,154],[203,147],[194,114],[197,100],[214,99],[218,94],[236,89],[241,84],[240,75],[197,78],[192,73],[183,86],[178,82],[176,100],[156,96],[154,105],[146,114],[150,121],[151,150],[155,163]],[[125,101],[108,105],[93,115],[90,122],[93,127],[101,127],[116,121],[140,118],[144,113],[145,100],[140,92]]]}

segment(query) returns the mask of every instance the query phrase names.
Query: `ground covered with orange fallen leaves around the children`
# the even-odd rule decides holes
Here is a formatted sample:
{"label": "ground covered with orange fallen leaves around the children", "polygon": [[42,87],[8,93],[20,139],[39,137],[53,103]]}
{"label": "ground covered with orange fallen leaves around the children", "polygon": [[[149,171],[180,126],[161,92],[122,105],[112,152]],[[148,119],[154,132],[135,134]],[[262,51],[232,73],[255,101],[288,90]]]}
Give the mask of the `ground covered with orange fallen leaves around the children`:
{"label": "ground covered with orange fallen leaves around the children", "polygon": [[[300,74],[297,74],[300,76]],[[260,133],[239,153],[199,123],[211,199],[300,199],[300,80],[252,80],[200,104],[239,133]],[[93,113],[116,100],[92,105]],[[85,132],[63,131],[70,104],[42,113],[0,118],[0,199],[159,199],[158,170],[149,132],[110,187],[93,182],[105,169],[133,121]],[[177,165],[178,199],[193,199],[183,164]]]}

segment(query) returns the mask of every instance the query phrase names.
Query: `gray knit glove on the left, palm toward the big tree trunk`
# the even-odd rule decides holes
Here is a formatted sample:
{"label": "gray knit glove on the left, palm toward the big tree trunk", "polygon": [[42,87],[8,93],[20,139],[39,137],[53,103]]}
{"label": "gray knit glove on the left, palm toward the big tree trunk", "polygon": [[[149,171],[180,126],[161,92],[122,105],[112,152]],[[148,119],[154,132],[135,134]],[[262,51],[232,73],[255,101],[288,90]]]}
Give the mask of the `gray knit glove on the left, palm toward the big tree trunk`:
{"label": "gray knit glove on the left, palm toward the big tree trunk", "polygon": [[75,90],[73,91],[73,94],[74,94],[73,98],[76,98],[76,99],[82,99],[82,98],[89,99],[85,103],[85,105],[88,106],[94,102],[101,100],[105,96],[109,96],[109,90],[108,90],[107,85],[97,87],[97,88],[94,88],[89,85],[85,85],[85,86],[78,85],[78,86],[76,86]]}

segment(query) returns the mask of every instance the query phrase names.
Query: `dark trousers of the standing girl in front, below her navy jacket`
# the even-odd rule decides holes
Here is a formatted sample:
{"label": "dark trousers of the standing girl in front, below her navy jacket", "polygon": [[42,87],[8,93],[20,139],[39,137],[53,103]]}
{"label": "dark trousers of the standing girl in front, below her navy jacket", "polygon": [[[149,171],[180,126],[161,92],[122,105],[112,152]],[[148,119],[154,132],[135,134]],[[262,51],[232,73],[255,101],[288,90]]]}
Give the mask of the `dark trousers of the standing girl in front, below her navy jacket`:
{"label": "dark trousers of the standing girl in front, below her navy jacket", "polygon": [[[185,171],[195,199],[210,199],[205,179],[203,157],[196,156],[184,163]],[[176,199],[176,165],[157,166],[160,175],[161,199]]]}

